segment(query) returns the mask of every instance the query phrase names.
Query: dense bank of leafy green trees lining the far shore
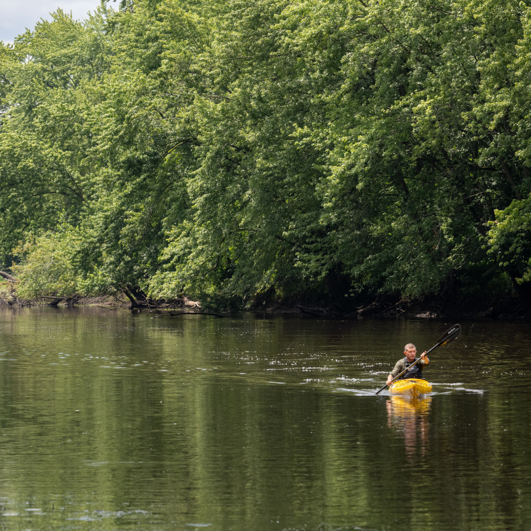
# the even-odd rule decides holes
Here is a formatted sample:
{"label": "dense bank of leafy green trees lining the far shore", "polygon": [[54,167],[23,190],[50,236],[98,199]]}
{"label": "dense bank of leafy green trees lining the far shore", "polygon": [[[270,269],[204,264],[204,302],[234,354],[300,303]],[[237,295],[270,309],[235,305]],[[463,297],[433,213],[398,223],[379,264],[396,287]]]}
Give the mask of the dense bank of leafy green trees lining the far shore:
{"label": "dense bank of leafy green trees lining the far shore", "polygon": [[0,42],[0,304],[527,319],[529,79],[531,0],[57,10]]}

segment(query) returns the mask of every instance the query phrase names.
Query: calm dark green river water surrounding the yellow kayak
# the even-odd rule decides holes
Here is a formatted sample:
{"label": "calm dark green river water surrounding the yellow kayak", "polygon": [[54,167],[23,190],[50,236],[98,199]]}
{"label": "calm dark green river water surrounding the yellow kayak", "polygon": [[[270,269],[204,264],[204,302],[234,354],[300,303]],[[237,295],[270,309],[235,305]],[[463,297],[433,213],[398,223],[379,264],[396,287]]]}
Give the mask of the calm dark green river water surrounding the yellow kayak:
{"label": "calm dark green river water surrounding the yellow kayak", "polygon": [[531,325],[0,311],[0,529],[528,530]]}

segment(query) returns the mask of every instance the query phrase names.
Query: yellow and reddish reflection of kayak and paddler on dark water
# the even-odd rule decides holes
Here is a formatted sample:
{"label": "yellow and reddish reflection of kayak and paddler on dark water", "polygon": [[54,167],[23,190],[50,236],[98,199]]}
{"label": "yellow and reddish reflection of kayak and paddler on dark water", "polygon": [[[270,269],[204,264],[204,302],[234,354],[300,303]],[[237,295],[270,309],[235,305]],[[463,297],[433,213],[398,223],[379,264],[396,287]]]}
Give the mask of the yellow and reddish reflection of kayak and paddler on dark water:
{"label": "yellow and reddish reflection of kayak and paddler on dark water", "polygon": [[406,456],[413,458],[426,453],[431,397],[392,396],[386,401],[387,425],[404,431]]}

